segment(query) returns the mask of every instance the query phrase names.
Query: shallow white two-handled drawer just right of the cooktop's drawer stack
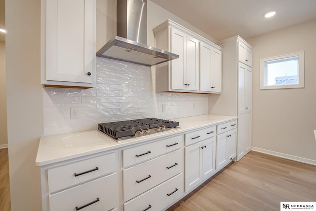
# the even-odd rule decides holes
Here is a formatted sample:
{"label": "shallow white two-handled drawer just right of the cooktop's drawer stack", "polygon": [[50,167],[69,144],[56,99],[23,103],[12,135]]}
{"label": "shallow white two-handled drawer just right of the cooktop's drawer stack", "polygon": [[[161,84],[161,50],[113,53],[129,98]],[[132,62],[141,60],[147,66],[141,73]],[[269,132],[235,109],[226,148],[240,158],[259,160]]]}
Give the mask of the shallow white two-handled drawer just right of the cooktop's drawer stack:
{"label": "shallow white two-handled drawer just right of the cooktop's drawer stack", "polygon": [[198,141],[202,141],[213,136],[216,136],[216,126],[193,131],[185,134],[185,145],[188,146],[190,144],[197,143]]}

